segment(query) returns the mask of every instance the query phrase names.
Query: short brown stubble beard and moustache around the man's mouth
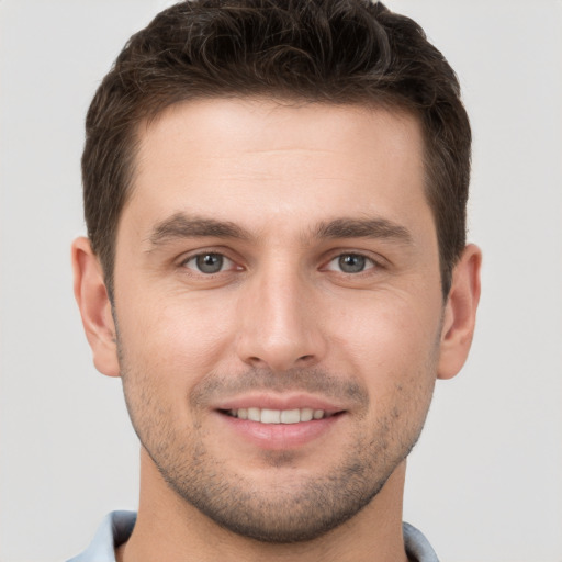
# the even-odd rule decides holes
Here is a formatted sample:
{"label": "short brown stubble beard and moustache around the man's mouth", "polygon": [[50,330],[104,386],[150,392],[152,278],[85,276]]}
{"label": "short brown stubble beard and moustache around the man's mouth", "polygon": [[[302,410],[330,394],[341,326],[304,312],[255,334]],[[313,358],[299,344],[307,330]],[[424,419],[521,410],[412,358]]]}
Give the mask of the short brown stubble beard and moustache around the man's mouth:
{"label": "short brown stubble beard and moustache around the man's mouth", "polygon": [[[289,376],[256,370],[236,378],[210,375],[190,396],[195,413],[204,411],[204,405],[216,395],[216,389],[225,391],[226,387],[226,393],[228,386],[279,391],[286,387],[286,383],[280,381],[288,380],[291,382],[286,390],[322,390],[324,395],[346,393],[357,401],[356,428],[362,427],[363,432],[357,431],[337,463],[322,474],[278,480],[276,471],[290,470],[294,454],[269,451],[263,459],[271,468],[271,481],[266,490],[258,488],[233,462],[210,452],[205,429],[196,416],[193,427],[175,427],[170,412],[157,402],[148,373],[131,372],[122,349],[120,361],[133,426],[165,482],[180,498],[221,527],[269,543],[316,539],[363,509],[416,443],[432,391],[431,385],[425,396],[419,393],[411,396],[418,402],[416,413],[409,411],[409,401],[404,396],[401,406],[405,409],[394,407],[379,417],[370,431],[364,431],[361,417],[367,416],[369,396],[357,383],[342,382],[318,370],[295,371]],[[403,392],[402,389],[398,392]],[[427,403],[422,406],[422,414],[419,401]]]}

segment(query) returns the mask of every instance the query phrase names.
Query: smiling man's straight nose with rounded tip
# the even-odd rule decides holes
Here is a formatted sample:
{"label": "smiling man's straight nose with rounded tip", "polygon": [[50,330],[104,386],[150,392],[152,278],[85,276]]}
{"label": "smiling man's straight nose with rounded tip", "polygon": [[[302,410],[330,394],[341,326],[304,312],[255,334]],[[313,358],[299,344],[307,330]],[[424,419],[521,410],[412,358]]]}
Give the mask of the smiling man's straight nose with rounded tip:
{"label": "smiling man's straight nose with rounded tip", "polygon": [[238,304],[239,359],[276,372],[310,368],[322,361],[327,345],[322,310],[313,292],[310,283],[286,268],[273,267],[255,276]]}

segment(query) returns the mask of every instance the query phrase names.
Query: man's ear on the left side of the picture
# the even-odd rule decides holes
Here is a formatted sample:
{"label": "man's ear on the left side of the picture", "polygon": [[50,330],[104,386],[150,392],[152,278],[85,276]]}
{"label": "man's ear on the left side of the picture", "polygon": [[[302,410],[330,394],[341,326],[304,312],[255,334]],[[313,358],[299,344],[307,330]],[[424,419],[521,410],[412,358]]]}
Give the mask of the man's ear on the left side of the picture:
{"label": "man's ear on the left side of the picture", "polygon": [[93,364],[108,376],[119,376],[116,330],[100,261],[88,238],[72,244],[75,297],[92,348]]}

